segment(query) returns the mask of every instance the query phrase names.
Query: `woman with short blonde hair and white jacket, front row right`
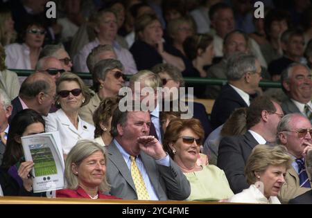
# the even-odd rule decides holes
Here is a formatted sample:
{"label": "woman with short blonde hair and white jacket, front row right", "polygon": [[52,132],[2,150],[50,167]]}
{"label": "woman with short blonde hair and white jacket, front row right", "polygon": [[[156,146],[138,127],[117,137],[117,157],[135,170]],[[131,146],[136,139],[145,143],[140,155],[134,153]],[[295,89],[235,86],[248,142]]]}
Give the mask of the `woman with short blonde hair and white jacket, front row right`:
{"label": "woman with short blonde hair and white jacket, front row right", "polygon": [[285,183],[286,170],[291,167],[291,156],[281,145],[257,145],[252,149],[245,176],[250,187],[235,194],[233,203],[277,203],[281,186]]}

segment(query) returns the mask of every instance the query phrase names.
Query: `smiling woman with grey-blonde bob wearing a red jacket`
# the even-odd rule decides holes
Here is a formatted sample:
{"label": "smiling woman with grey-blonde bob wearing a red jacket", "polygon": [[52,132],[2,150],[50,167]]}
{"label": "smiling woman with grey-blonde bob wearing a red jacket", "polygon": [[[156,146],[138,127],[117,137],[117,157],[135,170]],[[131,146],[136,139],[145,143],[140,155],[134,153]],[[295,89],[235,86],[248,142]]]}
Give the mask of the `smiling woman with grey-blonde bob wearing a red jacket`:
{"label": "smiling woman with grey-blonde bob wearing a red jacket", "polygon": [[90,140],[81,140],[65,162],[67,189],[57,190],[56,197],[80,199],[118,199],[104,194],[110,190],[106,179],[107,153],[105,147]]}

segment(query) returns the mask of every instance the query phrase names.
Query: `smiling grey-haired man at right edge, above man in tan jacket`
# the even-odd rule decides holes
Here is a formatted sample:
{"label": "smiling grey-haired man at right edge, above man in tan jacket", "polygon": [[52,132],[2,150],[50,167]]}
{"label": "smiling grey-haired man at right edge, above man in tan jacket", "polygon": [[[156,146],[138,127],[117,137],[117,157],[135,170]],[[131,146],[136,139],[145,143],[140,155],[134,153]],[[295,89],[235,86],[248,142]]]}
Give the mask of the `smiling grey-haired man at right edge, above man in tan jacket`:
{"label": "smiling grey-haired man at right edge, above man in tan jacket", "polygon": [[288,99],[281,104],[285,114],[302,113],[304,116],[311,114],[311,76],[311,69],[299,63],[291,64],[281,74],[282,89],[288,96]]}

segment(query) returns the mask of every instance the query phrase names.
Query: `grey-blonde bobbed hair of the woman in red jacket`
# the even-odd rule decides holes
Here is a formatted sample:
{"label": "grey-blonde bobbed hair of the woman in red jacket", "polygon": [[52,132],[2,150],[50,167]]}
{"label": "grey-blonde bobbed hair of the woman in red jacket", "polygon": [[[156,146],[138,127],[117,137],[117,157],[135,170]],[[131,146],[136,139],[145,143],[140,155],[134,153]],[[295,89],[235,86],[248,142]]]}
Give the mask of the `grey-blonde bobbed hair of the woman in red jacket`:
{"label": "grey-blonde bobbed hair of the woman in red jacket", "polygon": [[[105,165],[107,163],[107,152],[105,147],[98,145],[98,143],[93,140],[79,140],[75,146],[71,149],[67,155],[65,161],[65,179],[67,181],[67,188],[71,190],[76,190],[79,186],[78,176],[73,174],[71,170],[71,164],[75,163],[79,166],[85,158],[94,154],[94,152],[102,152],[105,158]],[[102,183],[99,185],[99,190],[101,193],[107,192],[110,190],[110,184],[107,182],[106,175]]]}

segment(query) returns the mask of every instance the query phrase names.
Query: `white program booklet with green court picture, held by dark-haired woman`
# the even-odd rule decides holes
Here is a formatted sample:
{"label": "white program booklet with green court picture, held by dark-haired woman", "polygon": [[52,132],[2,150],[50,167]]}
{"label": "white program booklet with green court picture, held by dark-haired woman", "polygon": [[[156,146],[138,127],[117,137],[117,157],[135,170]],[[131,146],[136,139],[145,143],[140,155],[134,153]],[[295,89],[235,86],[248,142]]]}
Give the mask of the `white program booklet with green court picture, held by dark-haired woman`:
{"label": "white program booklet with green court picture, held by dark-haired woman", "polygon": [[21,137],[26,161],[33,161],[33,192],[64,188],[64,157],[58,131]]}

